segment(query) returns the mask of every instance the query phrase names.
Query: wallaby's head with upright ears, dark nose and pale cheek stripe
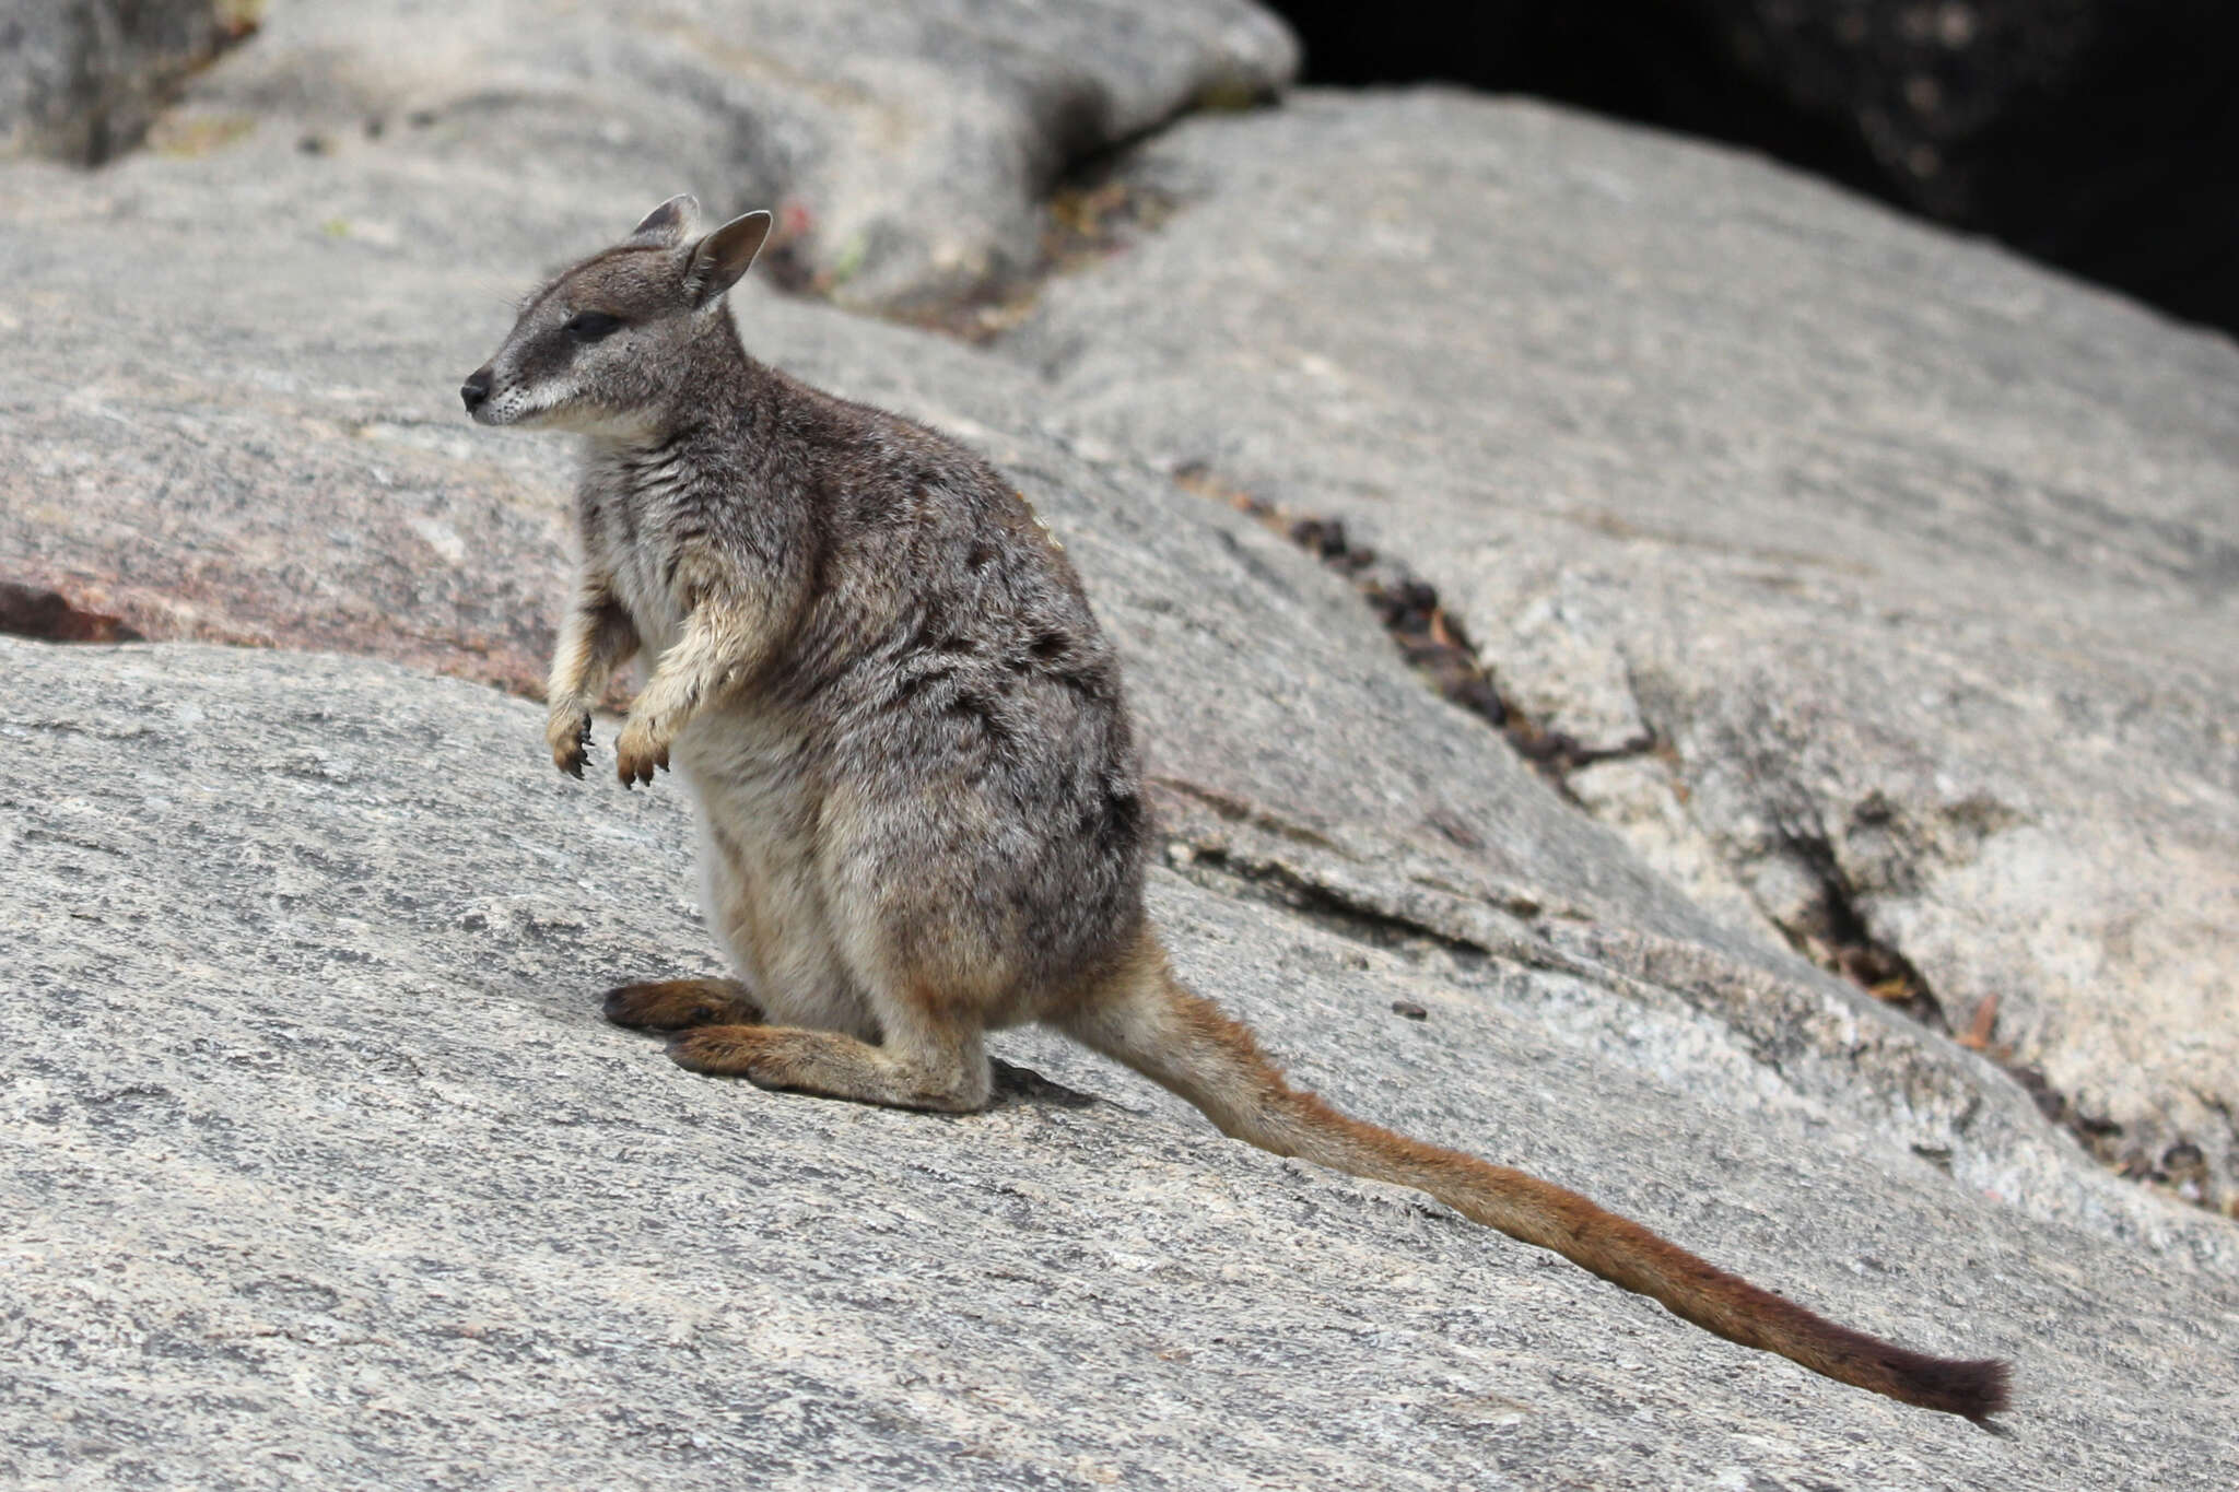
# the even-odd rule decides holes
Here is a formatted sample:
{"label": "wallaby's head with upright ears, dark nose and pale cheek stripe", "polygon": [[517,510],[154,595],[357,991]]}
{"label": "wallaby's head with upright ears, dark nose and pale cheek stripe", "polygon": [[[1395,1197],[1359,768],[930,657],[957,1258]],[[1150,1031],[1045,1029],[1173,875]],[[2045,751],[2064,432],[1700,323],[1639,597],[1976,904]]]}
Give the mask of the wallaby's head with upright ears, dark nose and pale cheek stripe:
{"label": "wallaby's head with upright ears, dark nose and pale cheek stripe", "polygon": [[667,421],[690,349],[721,324],[723,293],[770,235],[768,213],[701,233],[669,197],[627,239],[537,291],[497,353],[459,385],[481,425],[643,436]]}

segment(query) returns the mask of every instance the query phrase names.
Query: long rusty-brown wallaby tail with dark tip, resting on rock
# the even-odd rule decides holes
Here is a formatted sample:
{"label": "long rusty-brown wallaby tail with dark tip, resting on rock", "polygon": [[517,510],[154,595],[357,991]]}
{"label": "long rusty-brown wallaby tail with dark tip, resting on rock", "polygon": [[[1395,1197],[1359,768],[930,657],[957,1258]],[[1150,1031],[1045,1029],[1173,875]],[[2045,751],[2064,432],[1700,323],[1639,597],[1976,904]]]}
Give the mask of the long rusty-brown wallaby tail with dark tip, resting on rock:
{"label": "long rusty-brown wallaby tail with dark tip, resting on rock", "polygon": [[2004,1362],[1928,1358],[1836,1326],[1561,1186],[1339,1114],[1314,1094],[1290,1087],[1261,1056],[1252,1031],[1175,982],[1155,946],[1102,998],[1059,1024],[1075,1040],[1198,1105],[1234,1139],[1424,1190],[1473,1221],[1552,1248],[1731,1342],[1776,1351],[1838,1382],[1975,1423],[1988,1423],[2006,1407]]}

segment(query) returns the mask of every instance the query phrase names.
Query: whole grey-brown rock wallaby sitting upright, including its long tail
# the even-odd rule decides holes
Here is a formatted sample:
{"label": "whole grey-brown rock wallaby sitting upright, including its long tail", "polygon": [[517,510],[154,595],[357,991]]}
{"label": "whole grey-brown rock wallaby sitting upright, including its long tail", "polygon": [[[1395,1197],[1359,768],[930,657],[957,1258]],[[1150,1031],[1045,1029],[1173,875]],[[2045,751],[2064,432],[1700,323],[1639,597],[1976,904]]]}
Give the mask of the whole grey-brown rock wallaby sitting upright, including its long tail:
{"label": "whole grey-brown rock wallaby sitting upright, including its long tail", "polygon": [[768,228],[661,204],[461,387],[484,425],[582,436],[546,740],[582,776],[593,698],[645,653],[616,767],[690,783],[741,973],[627,984],[611,1020],[672,1031],[694,1071],[954,1112],[987,1101],[985,1033],[1041,1020],[1236,1139],[1420,1188],[1744,1347],[1977,1423],[2006,1405],[2004,1362],[1836,1326],[1576,1192],[1339,1114],[1184,989],[1079,577],[985,461],[746,353],[725,291]]}

